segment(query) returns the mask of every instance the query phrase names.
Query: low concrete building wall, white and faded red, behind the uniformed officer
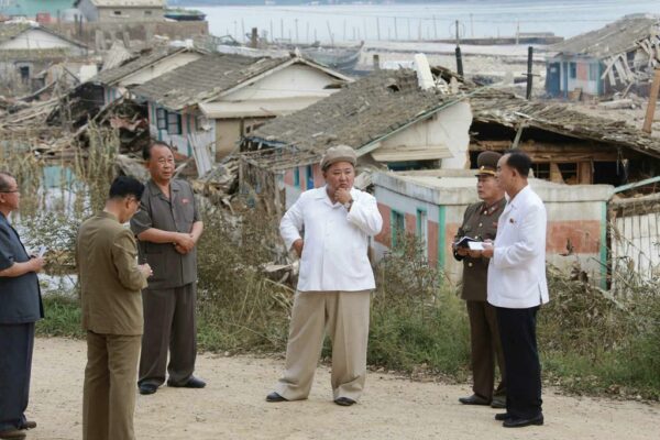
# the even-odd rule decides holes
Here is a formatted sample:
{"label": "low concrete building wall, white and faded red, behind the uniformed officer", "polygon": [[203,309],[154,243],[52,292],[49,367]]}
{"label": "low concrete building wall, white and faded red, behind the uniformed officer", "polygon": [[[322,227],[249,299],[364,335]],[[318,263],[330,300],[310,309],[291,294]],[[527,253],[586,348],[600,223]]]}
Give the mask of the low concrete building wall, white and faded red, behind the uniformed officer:
{"label": "low concrete building wall, white and faded red, behind the uniformed officer", "polygon": [[[374,243],[375,254],[382,256],[392,246],[393,211],[405,216],[406,232],[413,234],[417,233],[420,212],[426,211],[429,262],[438,264],[452,283],[460,282],[462,264],[453,258],[451,243],[465,208],[479,201],[476,179],[405,179],[392,173],[380,173],[373,180],[378,208],[385,220],[383,231]],[[591,279],[604,282],[607,262],[606,202],[613,187],[552,185],[536,179],[531,180],[531,186],[546,202],[548,212],[548,262],[569,268],[578,261]],[[571,254],[562,256],[569,253],[566,246],[572,249]]]}

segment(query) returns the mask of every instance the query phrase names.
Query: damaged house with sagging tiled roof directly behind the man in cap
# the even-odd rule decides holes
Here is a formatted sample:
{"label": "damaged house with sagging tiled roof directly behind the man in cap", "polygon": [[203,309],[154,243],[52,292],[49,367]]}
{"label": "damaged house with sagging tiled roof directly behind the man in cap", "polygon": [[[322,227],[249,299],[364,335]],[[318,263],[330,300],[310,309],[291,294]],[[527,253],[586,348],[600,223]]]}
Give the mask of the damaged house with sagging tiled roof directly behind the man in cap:
{"label": "damaged house with sagging tiled roof directly behind the man in cap", "polygon": [[[375,70],[305,110],[277,118],[242,144],[241,188],[279,210],[323,184],[319,163],[338,144],[360,165],[464,168],[472,122],[465,95],[438,69]],[[450,92],[450,89],[454,89]]]}

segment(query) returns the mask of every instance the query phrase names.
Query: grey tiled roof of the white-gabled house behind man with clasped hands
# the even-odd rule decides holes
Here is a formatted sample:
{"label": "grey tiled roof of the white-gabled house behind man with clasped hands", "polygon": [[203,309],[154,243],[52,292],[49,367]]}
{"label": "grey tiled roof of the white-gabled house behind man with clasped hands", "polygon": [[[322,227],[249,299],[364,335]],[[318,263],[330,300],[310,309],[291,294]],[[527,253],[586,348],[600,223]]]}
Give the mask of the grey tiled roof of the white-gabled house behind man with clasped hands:
{"label": "grey tiled roof of the white-gabled house behind man with clasped hands", "polygon": [[213,99],[290,59],[209,54],[136,87],[133,92],[168,109],[180,110]]}

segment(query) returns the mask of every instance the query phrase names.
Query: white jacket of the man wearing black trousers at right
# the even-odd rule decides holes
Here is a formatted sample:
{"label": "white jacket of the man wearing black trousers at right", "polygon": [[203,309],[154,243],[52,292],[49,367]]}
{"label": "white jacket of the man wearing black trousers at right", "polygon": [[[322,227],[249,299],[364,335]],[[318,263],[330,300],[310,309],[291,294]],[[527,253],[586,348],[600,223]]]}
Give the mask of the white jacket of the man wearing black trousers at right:
{"label": "white jacket of the man wearing black trousers at right", "polygon": [[543,202],[529,185],[504,208],[497,221],[488,265],[488,302],[524,309],[546,304],[546,228]]}

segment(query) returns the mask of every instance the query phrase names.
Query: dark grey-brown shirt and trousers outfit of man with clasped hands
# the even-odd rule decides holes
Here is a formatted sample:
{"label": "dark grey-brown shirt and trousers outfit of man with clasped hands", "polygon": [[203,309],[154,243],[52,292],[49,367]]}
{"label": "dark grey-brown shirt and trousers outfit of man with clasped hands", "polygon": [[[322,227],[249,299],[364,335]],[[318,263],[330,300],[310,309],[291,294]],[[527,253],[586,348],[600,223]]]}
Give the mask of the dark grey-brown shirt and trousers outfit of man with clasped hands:
{"label": "dark grey-brown shirt and trousers outfit of man with clasped hands", "polygon": [[[201,221],[187,182],[173,179],[169,191],[168,198],[155,182],[145,185],[140,211],[131,219],[135,235],[150,228],[190,233],[193,224]],[[162,385],[167,366],[168,383],[184,385],[193,376],[197,356],[197,249],[182,255],[173,243],[141,241],[139,250],[140,263],[148,263],[154,275],[142,292],[144,334],[138,383]]]}

